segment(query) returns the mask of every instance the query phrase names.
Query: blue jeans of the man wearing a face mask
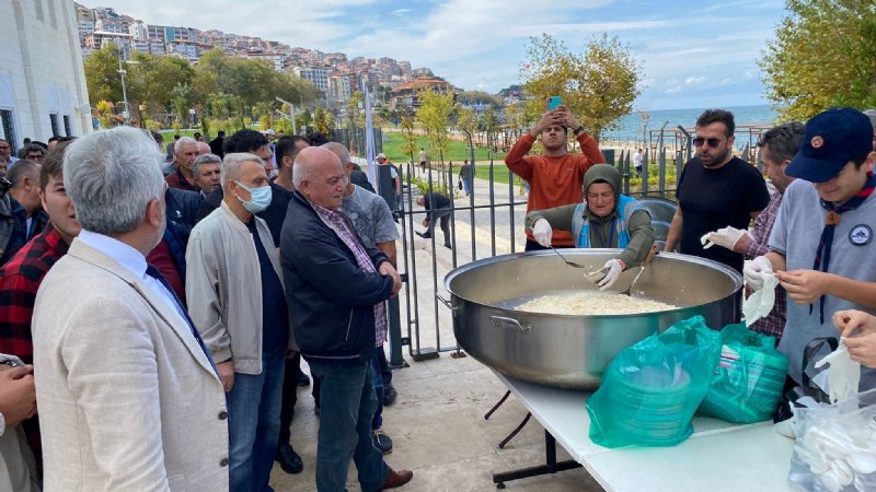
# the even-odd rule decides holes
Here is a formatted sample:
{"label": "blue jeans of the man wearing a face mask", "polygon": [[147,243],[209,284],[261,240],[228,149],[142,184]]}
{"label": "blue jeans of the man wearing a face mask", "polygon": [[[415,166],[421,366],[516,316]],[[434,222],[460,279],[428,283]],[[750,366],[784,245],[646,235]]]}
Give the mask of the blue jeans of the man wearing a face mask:
{"label": "blue jeans of the man wearing a face mask", "polygon": [[280,431],[286,350],[262,355],[262,374],[234,373],[228,400],[231,492],[273,491],[268,487]]}

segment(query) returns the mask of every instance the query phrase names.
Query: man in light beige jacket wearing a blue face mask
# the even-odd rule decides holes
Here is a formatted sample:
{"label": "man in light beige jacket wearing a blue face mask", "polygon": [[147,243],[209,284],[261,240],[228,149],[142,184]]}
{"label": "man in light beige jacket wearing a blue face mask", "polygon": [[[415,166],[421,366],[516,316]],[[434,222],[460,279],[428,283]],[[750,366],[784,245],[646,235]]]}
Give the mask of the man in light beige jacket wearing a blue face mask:
{"label": "man in light beige jacket wearing a blue face mask", "polygon": [[230,490],[265,491],[293,343],[279,258],[255,216],[270,203],[272,187],[264,161],[250,153],[226,154],[221,184],[222,202],[188,238],[185,290],[228,395]]}

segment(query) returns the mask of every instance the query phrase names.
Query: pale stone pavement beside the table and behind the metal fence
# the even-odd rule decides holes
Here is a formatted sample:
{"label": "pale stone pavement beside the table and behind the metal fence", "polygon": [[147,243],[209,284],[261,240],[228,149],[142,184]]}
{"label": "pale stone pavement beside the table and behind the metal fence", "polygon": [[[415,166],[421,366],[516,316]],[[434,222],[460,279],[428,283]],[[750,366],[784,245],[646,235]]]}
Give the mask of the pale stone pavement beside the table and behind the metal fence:
{"label": "pale stone pavement beside the table and behind the metal fence", "polygon": [[[496,165],[502,165],[496,163]],[[507,196],[507,185],[499,185]],[[489,202],[489,184],[475,179],[475,204]],[[520,197],[525,198],[525,197]],[[507,198],[506,198],[507,201]],[[454,201],[457,207],[470,203],[462,197]],[[453,251],[439,241],[433,250],[431,241],[416,238],[407,251],[407,265],[416,263],[416,298],[418,300],[418,323],[420,347],[454,345],[452,323],[449,309],[438,305],[436,325],[433,313],[436,303],[433,278],[437,274],[438,293],[446,296],[443,277],[454,263],[471,261],[473,253],[477,258],[487,257],[495,244],[496,253],[509,253],[511,242],[518,251],[523,248],[522,211],[517,214],[514,231],[507,223],[496,227],[495,239],[488,223],[476,218],[474,226],[469,224],[469,211],[458,211],[456,221],[456,248]],[[507,213],[507,212],[506,212]],[[414,218],[417,231],[423,215]],[[474,250],[471,238],[474,237]],[[399,245],[400,251],[401,243]],[[400,255],[400,263],[402,263]],[[400,271],[404,271],[400,267]],[[402,295],[407,295],[403,289]],[[413,297],[413,295],[412,295]],[[401,300],[402,330],[406,335],[407,300]],[[544,464],[544,430],[534,419],[504,448],[497,444],[508,435],[526,415],[526,409],[510,397],[489,420],[486,413],[505,394],[505,386],[492,371],[471,356],[454,359],[450,353],[441,353],[438,359],[415,362],[404,348],[408,367],[393,375],[393,385],[399,391],[395,403],[384,409],[383,430],[393,440],[394,450],[385,457],[395,469],[411,469],[414,479],[401,491],[494,491],[494,472],[531,467]],[[308,371],[304,367],[306,372]],[[581,408],[581,415],[586,409]],[[279,466],[274,467],[270,484],[279,491],[314,491],[316,456],[316,432],[319,418],[313,412],[310,388],[299,388],[296,417],[292,422],[292,443],[304,461],[300,475],[287,475]],[[558,448],[557,459],[568,459]],[[507,482],[509,491],[601,491],[598,483],[583,468],[530,479]],[[350,468],[347,489],[358,491],[355,467]]]}

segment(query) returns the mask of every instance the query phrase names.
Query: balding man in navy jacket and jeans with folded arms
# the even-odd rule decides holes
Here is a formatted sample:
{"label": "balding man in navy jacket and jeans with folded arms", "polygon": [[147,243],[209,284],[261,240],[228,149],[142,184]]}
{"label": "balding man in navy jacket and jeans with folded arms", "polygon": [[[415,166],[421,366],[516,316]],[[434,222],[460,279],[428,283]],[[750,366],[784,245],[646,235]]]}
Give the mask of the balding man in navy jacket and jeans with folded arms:
{"label": "balding man in navy jacket and jeans with folded arms", "polygon": [[362,245],[341,211],[346,173],[335,154],[302,150],[292,179],[280,259],[296,341],[322,379],[316,488],[344,490],[350,457],[362,490],[401,487],[413,472],[387,466],[370,432],[374,326],[387,323],[383,301],[397,295],[401,279],[387,255]]}

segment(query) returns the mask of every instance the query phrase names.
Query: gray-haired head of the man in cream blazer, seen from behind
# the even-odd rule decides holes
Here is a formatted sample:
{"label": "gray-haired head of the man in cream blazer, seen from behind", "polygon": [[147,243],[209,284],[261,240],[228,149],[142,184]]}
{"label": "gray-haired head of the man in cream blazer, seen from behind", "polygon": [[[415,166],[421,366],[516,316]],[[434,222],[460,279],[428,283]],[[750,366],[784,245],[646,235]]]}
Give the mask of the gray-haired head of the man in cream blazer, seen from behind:
{"label": "gray-haired head of the man in cream blazer, seen from behind", "polygon": [[136,128],[74,140],[64,155],[64,186],[82,227],[107,236],[137,229],[149,202],[164,199],[163,162],[152,137]]}

